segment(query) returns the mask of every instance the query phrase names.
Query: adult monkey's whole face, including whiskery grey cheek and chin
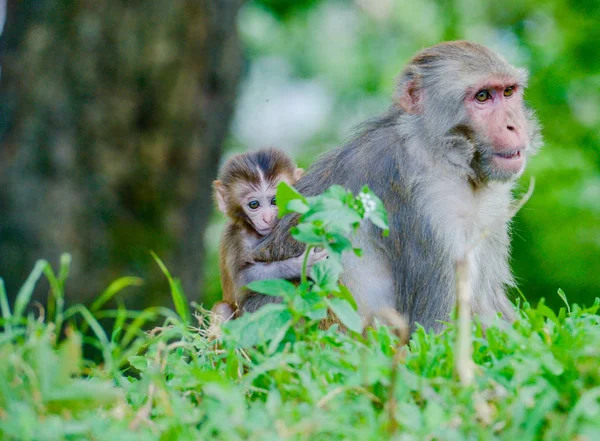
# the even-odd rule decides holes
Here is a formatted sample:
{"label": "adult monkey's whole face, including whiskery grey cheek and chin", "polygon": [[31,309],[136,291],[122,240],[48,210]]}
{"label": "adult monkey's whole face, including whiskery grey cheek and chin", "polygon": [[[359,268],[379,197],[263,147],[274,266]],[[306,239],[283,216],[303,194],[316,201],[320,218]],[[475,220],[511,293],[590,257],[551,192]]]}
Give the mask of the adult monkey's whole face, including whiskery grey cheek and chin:
{"label": "adult monkey's whole face, including whiskery grey cheek and chin", "polygon": [[473,168],[482,180],[520,176],[532,148],[523,88],[511,81],[487,81],[467,93],[465,106],[474,128]]}

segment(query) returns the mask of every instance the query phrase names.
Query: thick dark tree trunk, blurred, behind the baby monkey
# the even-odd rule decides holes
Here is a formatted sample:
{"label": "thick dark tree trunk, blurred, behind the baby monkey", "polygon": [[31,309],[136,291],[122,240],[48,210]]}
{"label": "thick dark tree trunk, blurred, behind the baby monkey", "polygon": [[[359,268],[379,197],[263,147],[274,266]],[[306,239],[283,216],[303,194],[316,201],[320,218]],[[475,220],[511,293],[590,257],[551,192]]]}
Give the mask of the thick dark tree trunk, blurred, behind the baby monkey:
{"label": "thick dark tree trunk, blurred, behind the baby monkey", "polygon": [[[9,1],[0,84],[0,276],[73,256],[67,295],[114,278],[164,304],[154,250],[188,298],[241,71],[241,0]],[[131,297],[129,297],[131,298]]]}

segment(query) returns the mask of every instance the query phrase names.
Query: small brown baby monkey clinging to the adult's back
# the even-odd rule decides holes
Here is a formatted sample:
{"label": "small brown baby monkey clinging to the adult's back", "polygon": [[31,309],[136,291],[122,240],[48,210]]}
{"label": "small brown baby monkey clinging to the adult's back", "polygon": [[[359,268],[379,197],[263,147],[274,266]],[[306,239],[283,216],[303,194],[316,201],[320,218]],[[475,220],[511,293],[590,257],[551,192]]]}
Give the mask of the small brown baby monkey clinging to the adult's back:
{"label": "small brown baby monkey clinging to the adult's back", "polygon": [[[276,262],[255,262],[251,256],[278,221],[277,185],[282,181],[293,185],[303,171],[285,153],[265,149],[232,157],[213,182],[217,206],[229,218],[219,247],[223,301],[213,307],[220,319],[243,312],[237,305],[248,283],[300,278],[303,255]],[[326,257],[325,250],[313,250],[308,270]]]}

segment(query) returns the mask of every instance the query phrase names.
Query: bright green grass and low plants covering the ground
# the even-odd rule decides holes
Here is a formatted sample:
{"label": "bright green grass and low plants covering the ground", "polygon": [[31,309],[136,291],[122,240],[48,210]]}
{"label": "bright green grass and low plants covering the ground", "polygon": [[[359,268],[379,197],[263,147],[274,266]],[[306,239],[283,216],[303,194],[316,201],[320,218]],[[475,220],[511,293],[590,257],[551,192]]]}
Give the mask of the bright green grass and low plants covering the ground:
{"label": "bright green grass and low plants covering the ground", "polygon": [[[12,309],[0,284],[2,440],[600,439],[598,301],[558,315],[525,303],[516,323],[498,319],[485,334],[472,324],[465,386],[453,324],[404,346],[385,326],[349,335],[294,322],[285,304],[225,327],[201,311],[186,322],[186,308],[102,309],[136,279],[111,285],[94,313],[63,310],[68,264],[55,276],[38,263]],[[42,274],[45,320],[28,308]],[[106,316],[110,333],[96,320]],[[100,363],[83,358],[86,345]]]}

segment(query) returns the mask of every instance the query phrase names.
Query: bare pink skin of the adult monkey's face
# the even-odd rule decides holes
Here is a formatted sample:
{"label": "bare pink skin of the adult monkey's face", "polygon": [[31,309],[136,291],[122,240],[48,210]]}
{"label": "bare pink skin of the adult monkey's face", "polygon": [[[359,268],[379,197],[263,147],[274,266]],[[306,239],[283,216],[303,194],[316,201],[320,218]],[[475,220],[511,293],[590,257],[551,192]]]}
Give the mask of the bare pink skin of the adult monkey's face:
{"label": "bare pink skin of the adult monkey's face", "polygon": [[471,90],[465,99],[471,121],[490,141],[491,166],[517,174],[529,147],[523,88],[510,81],[491,81]]}

